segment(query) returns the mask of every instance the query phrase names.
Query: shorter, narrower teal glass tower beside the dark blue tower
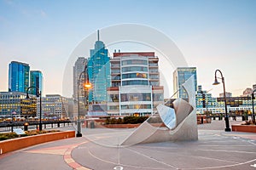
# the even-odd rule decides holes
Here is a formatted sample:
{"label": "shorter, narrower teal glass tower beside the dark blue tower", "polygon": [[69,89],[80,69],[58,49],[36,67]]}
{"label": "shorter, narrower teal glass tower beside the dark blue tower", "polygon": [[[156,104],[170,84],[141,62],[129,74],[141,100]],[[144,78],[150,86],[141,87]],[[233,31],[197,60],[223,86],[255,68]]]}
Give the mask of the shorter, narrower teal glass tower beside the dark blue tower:
{"label": "shorter, narrower teal glass tower beside the dark blue tower", "polygon": [[30,71],[30,86],[36,87],[31,88],[30,92],[37,95],[37,88],[43,94],[43,74],[41,71]]}

